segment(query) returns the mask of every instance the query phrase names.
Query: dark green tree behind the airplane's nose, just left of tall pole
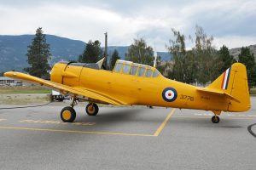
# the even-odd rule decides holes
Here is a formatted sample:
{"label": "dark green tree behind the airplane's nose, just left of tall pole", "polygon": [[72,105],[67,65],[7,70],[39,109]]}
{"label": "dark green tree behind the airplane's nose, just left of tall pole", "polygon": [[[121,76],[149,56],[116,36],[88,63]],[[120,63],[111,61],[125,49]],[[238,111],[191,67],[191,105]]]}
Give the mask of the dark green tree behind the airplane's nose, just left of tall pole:
{"label": "dark green tree behind the airplane's nose, just left of tall pole", "polygon": [[79,55],[81,63],[96,63],[102,57],[101,42],[91,40],[86,44],[84,53]]}

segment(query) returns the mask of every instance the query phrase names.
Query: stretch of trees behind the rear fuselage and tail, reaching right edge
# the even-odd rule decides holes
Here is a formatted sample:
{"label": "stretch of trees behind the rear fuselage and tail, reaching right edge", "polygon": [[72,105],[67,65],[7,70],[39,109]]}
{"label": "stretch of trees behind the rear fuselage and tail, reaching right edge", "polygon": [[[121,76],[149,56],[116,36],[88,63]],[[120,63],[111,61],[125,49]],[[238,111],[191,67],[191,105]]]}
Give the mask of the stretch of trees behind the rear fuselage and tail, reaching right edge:
{"label": "stretch of trees behind the rear fuselage and tail, reaching right edge", "polygon": [[180,31],[172,29],[172,34],[174,38],[166,47],[173,56],[172,69],[166,71],[167,77],[179,82],[206,85],[233,63],[241,62],[247,66],[249,87],[256,85],[256,64],[249,48],[242,47],[238,59],[234,59],[225,45],[216,49],[212,45],[213,37],[208,37],[201,26],[195,26],[194,38],[189,36],[189,40],[195,44],[191,49],[186,48],[186,37]]}

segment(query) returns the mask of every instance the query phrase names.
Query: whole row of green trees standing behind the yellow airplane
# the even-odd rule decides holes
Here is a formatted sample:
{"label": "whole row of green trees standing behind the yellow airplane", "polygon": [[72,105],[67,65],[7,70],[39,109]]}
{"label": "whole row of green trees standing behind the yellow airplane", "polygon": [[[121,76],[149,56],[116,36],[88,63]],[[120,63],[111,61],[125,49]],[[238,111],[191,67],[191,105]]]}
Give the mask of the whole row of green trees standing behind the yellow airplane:
{"label": "whole row of green trees standing behind the yellow airplane", "polygon": [[[179,82],[201,83],[206,85],[217,78],[222,72],[235,62],[241,62],[247,66],[249,87],[256,86],[256,64],[253,53],[247,47],[241,48],[238,59],[230,55],[229,48],[223,45],[216,49],[213,45],[213,37],[208,37],[201,26],[195,26],[195,37],[188,38],[182,32],[172,29],[173,38],[169,40],[166,49],[172,55],[170,61],[162,62],[157,58],[157,69],[165,76]],[[186,42],[192,42],[194,47],[187,48]],[[24,71],[36,77],[49,78],[50,48],[41,27],[36,31],[32,44],[27,49],[27,62],[30,65]],[[84,51],[74,59],[74,62],[96,63],[102,59],[103,51],[101,42],[90,40],[84,46]],[[107,68],[113,69],[115,61],[120,59],[118,51],[108,56]],[[125,59],[144,65],[154,65],[154,50],[148,46],[143,38],[136,38],[129,46]]]}

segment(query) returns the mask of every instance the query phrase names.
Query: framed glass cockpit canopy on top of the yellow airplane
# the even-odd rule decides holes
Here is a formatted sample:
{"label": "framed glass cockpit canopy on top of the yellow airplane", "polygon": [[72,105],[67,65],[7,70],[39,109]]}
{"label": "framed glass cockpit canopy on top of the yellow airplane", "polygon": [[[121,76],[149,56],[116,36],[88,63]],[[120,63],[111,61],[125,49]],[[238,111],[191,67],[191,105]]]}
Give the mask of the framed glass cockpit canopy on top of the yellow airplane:
{"label": "framed glass cockpit canopy on top of the yellow airplane", "polygon": [[160,77],[160,72],[149,65],[142,65],[118,59],[114,65],[113,72],[134,75],[137,77]]}

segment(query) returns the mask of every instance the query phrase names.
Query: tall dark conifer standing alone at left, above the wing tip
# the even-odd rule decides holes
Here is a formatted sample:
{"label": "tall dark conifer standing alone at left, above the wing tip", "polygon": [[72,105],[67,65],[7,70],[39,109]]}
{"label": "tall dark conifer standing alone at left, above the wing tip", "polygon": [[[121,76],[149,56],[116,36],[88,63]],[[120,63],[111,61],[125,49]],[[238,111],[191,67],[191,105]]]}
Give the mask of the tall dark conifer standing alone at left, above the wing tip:
{"label": "tall dark conifer standing alone at left, above the wing tip", "polygon": [[46,42],[45,34],[41,27],[36,31],[32,44],[27,47],[27,62],[30,67],[24,69],[30,75],[35,77],[49,78],[50,59],[49,44]]}

